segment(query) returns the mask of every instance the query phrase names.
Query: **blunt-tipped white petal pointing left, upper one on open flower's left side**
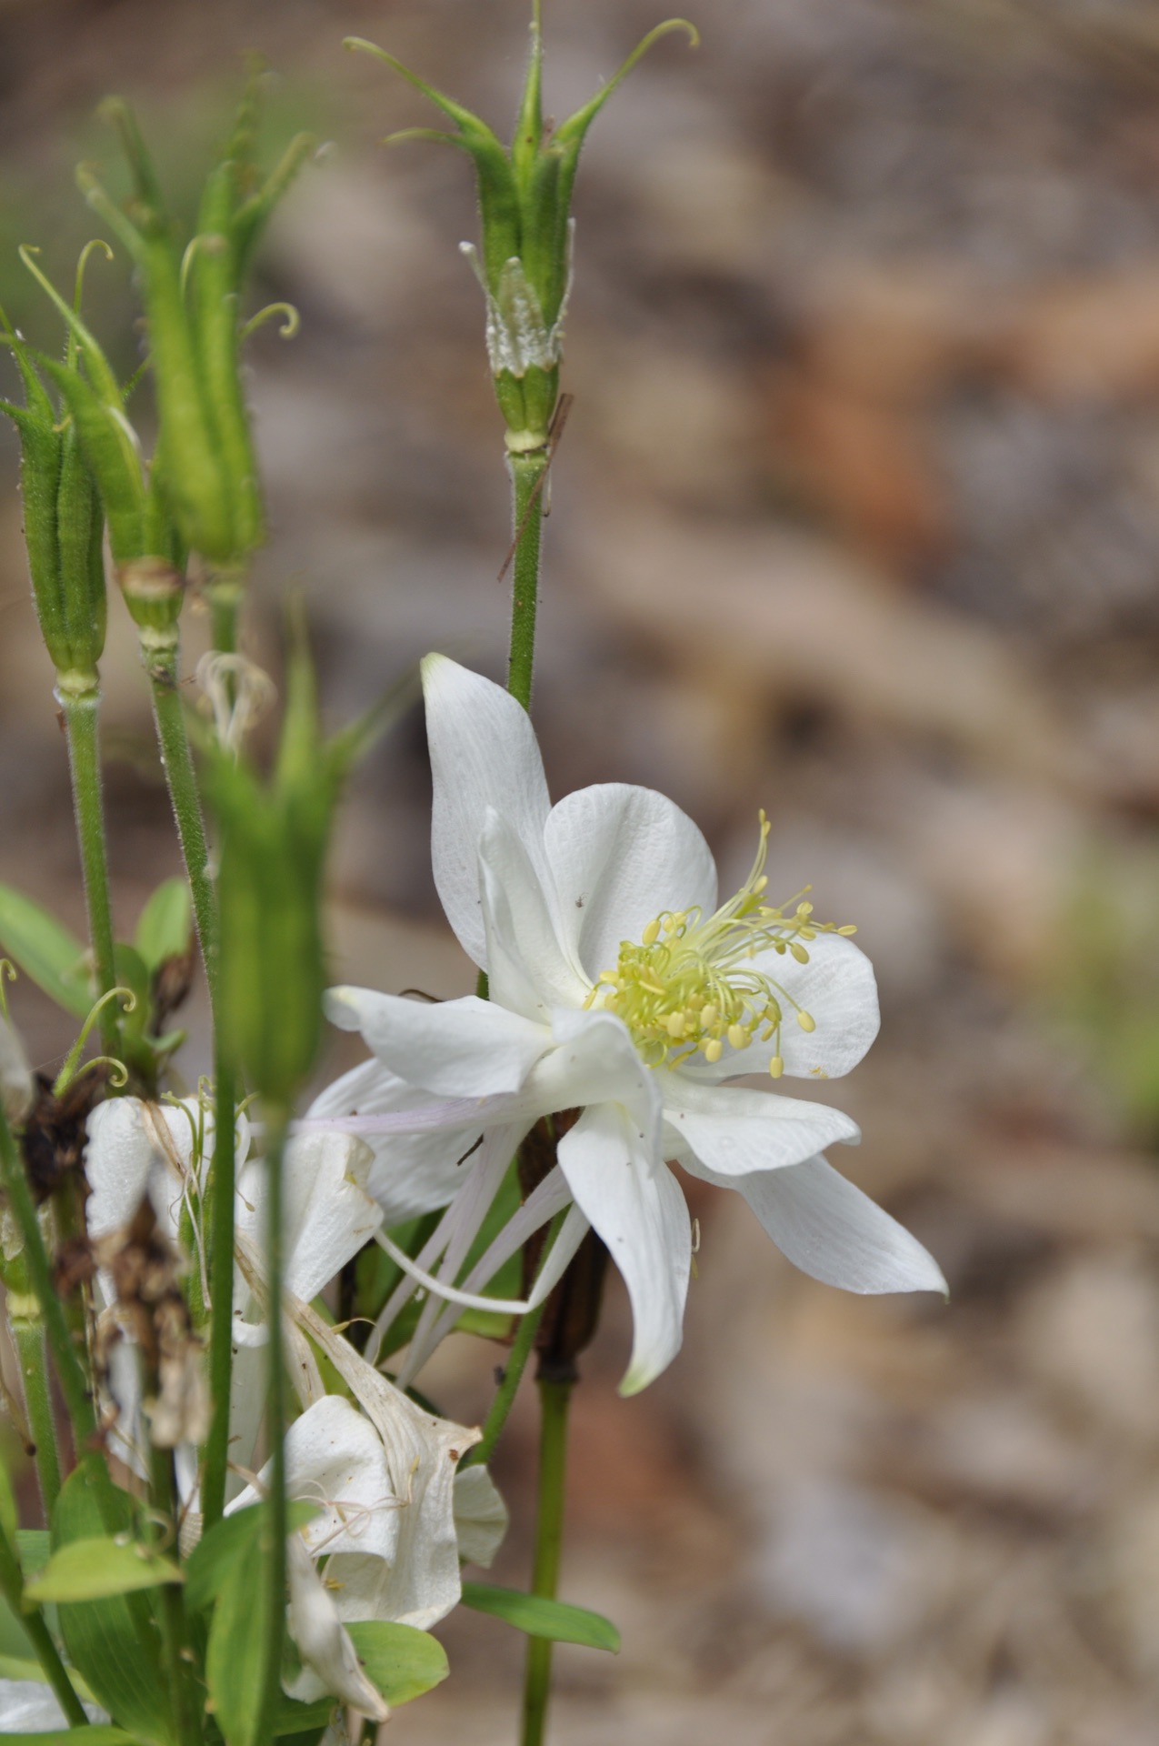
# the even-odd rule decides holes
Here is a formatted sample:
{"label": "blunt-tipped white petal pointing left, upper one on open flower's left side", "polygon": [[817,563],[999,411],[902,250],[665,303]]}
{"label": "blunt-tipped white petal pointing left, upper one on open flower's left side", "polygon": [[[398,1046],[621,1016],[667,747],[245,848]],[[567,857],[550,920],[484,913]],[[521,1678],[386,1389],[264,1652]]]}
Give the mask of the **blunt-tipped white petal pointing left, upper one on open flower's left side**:
{"label": "blunt-tipped white petal pointing left, upper one on open flower's left side", "polygon": [[326,1016],[340,1030],[360,1030],[408,1084],[442,1096],[517,1091],[548,1046],[543,1025],[473,993],[428,1004],[374,988],[330,988]]}

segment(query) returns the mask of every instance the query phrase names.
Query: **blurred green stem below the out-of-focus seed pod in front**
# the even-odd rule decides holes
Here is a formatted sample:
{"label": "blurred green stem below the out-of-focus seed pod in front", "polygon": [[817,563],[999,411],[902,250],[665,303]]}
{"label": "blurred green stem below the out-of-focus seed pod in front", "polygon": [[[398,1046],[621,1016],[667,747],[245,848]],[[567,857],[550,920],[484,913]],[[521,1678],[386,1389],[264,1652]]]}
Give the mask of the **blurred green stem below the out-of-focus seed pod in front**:
{"label": "blurred green stem below the out-of-focus seed pod in front", "polygon": [[281,1695],[281,1655],[286,1634],[286,1372],[281,1337],[281,1276],[283,1276],[283,1182],[281,1166],[286,1147],[290,1110],[265,1107],[269,1142],[265,1168],[269,1172],[265,1210],[265,1290],[269,1318],[269,1383],[265,1407],[265,1435],[271,1451],[267,1531],[264,1535],[264,1578],[267,1584],[267,1639],[262,1667],[264,1727],[257,1739],[272,1736],[272,1722]]}

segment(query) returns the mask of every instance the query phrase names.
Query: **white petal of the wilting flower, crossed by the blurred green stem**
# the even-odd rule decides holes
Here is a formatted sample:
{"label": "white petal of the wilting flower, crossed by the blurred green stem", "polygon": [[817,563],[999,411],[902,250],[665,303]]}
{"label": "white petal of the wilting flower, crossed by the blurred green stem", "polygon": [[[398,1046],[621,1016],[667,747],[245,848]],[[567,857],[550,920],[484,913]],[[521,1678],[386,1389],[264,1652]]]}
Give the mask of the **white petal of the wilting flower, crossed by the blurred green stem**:
{"label": "white petal of the wilting flower, crossed by the blurred green stem", "polygon": [[[298,1133],[283,1158],[286,1289],[307,1303],[374,1236],[382,1208],[365,1189],[372,1154],[349,1133]],[[237,1236],[265,1252],[267,1165],[237,1177]]]}

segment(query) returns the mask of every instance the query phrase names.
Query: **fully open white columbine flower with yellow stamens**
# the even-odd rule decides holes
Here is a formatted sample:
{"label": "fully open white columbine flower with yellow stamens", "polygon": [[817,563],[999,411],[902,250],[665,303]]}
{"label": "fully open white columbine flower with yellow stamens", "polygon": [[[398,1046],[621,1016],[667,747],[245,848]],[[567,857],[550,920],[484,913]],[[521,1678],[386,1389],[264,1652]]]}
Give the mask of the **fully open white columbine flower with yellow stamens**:
{"label": "fully open white columbine flower with yellow stamens", "polygon": [[691,1262],[669,1161],[738,1189],[778,1248],[819,1280],[857,1292],[944,1290],[925,1248],[820,1156],[859,1138],[848,1116],[728,1084],[754,1072],[836,1077],[878,1030],[864,953],[817,924],[808,903],[791,913],[766,903],[765,817],[749,880],[717,904],[709,845],[670,800],[613,782],[552,807],[531,721],[506,691],[440,655],[426,658],[422,681],[435,882],[490,999],[419,1004],[332,990],[330,1018],[360,1030],[379,1067],[330,1086],[309,1126],[375,1145],[368,1184],[387,1222],[403,1205],[452,1201],[417,1257],[429,1282],[424,1269],[442,1255],[440,1290],[450,1296],[518,1142],[543,1116],[573,1112],[573,1124],[534,1206],[449,1308],[428,1303],[405,1374],[454,1322],[456,1301],[471,1301],[513,1245],[571,1200],[553,1273],[593,1227],[632,1299],[621,1392],[658,1376],[681,1344]]}

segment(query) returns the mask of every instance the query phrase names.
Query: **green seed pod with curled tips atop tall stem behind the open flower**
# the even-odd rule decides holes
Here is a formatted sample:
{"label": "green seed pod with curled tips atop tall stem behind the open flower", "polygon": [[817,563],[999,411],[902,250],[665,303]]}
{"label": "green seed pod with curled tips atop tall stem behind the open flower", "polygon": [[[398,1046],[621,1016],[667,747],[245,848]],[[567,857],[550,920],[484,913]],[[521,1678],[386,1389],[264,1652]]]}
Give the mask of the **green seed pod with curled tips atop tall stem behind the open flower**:
{"label": "green seed pod with curled tips atop tall stem behind the open flower", "polygon": [[393,138],[445,140],[475,161],[482,258],[470,243],[463,248],[487,300],[487,356],[513,454],[546,445],[559,396],[571,290],[571,196],[586,131],[620,80],[670,30],[688,31],[693,45],[700,40],[684,19],[656,24],[592,101],[552,133],[543,124],[543,42],[539,0],[534,0],[531,58],[510,147],[478,115],[435,91],[386,49],[363,37],[346,38],[347,49],[363,49],[393,66],[457,127],[456,133],[412,127]]}

